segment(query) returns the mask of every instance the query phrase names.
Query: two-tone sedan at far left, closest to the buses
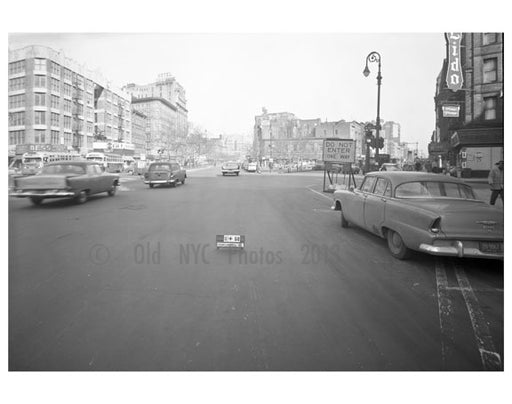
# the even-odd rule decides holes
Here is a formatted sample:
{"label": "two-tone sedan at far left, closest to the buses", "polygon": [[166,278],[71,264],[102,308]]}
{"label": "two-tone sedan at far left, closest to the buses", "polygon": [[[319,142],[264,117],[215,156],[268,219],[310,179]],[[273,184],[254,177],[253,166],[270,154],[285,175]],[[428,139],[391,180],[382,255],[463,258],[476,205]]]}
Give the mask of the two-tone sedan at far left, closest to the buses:
{"label": "two-tone sedan at far left, closest to the buses", "polygon": [[106,173],[100,163],[89,161],[63,161],[49,163],[41,173],[14,180],[11,196],[30,198],[39,205],[47,198],[74,198],[84,203],[93,194],[116,194],[119,175]]}

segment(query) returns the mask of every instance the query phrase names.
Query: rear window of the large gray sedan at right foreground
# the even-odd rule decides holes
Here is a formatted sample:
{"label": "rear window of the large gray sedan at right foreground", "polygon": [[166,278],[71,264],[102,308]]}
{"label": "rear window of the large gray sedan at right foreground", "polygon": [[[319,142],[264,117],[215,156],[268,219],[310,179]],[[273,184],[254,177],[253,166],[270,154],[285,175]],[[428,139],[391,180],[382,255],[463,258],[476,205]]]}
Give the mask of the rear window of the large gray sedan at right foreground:
{"label": "rear window of the large gray sedan at right foreground", "polygon": [[465,184],[442,181],[407,182],[396,187],[397,198],[476,199],[473,189]]}

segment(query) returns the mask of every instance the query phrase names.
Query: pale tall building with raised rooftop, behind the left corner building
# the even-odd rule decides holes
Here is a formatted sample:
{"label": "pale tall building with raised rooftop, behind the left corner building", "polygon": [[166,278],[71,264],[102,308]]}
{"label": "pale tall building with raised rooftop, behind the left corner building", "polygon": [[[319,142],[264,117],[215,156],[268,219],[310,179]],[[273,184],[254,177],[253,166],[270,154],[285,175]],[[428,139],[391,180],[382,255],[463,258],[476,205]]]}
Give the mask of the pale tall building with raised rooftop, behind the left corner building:
{"label": "pale tall building with raised rooftop, behind the left corner building", "polygon": [[164,73],[154,83],[123,87],[132,97],[136,109],[148,119],[150,151],[165,149],[179,154],[188,134],[188,110],[185,89],[176,79]]}

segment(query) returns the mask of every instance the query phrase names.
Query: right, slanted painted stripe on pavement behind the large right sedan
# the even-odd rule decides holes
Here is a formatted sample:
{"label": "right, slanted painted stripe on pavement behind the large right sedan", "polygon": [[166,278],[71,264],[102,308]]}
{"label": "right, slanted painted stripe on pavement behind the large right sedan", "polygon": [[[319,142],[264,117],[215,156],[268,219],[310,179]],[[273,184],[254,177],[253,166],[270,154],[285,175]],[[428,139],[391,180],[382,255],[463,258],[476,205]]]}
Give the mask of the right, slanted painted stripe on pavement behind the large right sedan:
{"label": "right, slanted painted stripe on pavement behind the large right sedan", "polygon": [[503,370],[500,355],[494,348],[492,336],[485,321],[484,313],[480,308],[478,299],[473,291],[471,284],[466,276],[464,269],[456,265],[455,275],[457,282],[461,286],[462,296],[466,302],[466,307],[471,318],[471,325],[475,334],[478,351],[485,370]]}

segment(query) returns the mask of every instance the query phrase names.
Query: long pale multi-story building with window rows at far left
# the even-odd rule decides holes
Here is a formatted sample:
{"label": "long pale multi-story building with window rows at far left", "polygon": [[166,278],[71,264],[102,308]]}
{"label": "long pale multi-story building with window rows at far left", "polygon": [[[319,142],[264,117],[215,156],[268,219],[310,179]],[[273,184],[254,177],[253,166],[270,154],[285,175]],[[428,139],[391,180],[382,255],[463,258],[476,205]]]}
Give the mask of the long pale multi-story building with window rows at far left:
{"label": "long pale multi-story building with window rows at far left", "polygon": [[87,153],[100,137],[131,141],[130,97],[44,46],[9,51],[9,145]]}

